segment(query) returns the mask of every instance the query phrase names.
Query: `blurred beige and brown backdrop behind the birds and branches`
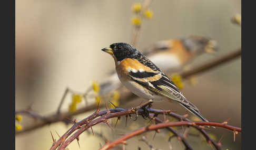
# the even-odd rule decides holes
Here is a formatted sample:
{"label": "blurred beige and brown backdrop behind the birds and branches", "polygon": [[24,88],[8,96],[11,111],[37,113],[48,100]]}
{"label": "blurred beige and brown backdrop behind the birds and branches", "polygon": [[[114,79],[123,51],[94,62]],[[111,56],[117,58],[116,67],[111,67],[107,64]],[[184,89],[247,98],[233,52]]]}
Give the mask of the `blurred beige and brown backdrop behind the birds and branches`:
{"label": "blurred beige and brown backdrop behind the birds and branches", "polygon": [[[113,42],[131,42],[131,6],[137,2],[142,3],[139,0],[16,0],[16,110],[32,104],[36,112],[51,114],[56,111],[66,87],[83,92],[90,80],[103,81],[114,69],[114,62],[101,49]],[[150,9],[153,18],[142,23],[137,42],[139,49],[155,41],[191,34],[218,41],[219,51],[214,55],[202,55],[192,62],[198,65],[241,46],[241,27],[230,22],[234,14],[241,14],[241,1],[153,1]],[[182,90],[186,97],[209,120],[223,122],[231,117],[229,124],[241,127],[241,58],[197,77],[197,85],[185,85]],[[70,97],[63,109],[67,109],[68,99]],[[153,106],[179,110],[164,102]],[[179,113],[185,111],[181,109]],[[79,120],[88,114],[76,118]],[[33,120],[24,119],[21,124],[25,126],[28,122]],[[97,129],[100,131],[100,127],[94,127],[95,131]],[[48,149],[52,145],[50,131],[63,134],[66,130],[61,122],[18,135],[16,149]],[[110,132],[109,128],[105,130]],[[241,149],[240,134],[233,142],[231,131],[218,128],[214,133],[218,140],[224,134],[223,149]],[[168,137],[164,133],[157,136],[152,144],[168,149]],[[152,141],[152,136],[149,139]],[[136,140],[128,141],[127,149],[148,148],[144,143],[137,144]],[[196,146],[196,139],[192,141]],[[97,149],[100,142],[104,144],[97,137],[81,135],[81,149]],[[68,148],[79,149],[76,142]],[[179,149],[179,145],[176,148]]]}

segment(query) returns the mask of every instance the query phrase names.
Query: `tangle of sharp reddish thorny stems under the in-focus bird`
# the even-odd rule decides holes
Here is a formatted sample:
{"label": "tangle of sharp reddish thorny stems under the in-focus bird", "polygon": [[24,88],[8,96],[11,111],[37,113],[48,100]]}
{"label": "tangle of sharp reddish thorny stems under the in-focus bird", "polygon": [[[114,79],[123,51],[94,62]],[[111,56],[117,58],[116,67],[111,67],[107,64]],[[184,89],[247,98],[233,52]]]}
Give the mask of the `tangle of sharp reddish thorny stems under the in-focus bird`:
{"label": "tangle of sharp reddish thorny stems under the in-focus bird", "polygon": [[[147,131],[156,131],[160,128],[169,128],[169,131],[173,132],[178,138],[184,143],[187,149],[192,149],[191,146],[185,141],[184,137],[176,133],[174,130],[170,129],[170,126],[194,126],[194,127],[200,127],[203,125],[210,125],[210,126],[219,126],[226,128],[228,130],[232,130],[234,132],[241,132],[241,128],[239,127],[234,127],[227,125],[227,123],[218,123],[218,122],[198,122],[198,121],[180,121],[180,122],[162,122],[160,119],[157,119],[156,115],[158,114],[168,114],[170,116],[178,117],[180,120],[186,120],[184,116],[175,114],[171,111],[165,111],[165,110],[155,110],[151,109],[149,107],[145,108],[147,105],[150,105],[153,101],[149,100],[135,108],[131,109],[120,109],[120,108],[115,108],[115,109],[107,109],[104,111],[100,111],[99,108],[90,116],[86,117],[80,122],[75,123],[66,133],[63,134],[63,136],[60,137],[60,139],[56,142],[53,143],[51,149],[64,149],[68,144],[70,144],[72,141],[77,139],[80,134],[82,134],[84,131],[86,131],[88,128],[91,128],[92,126],[99,124],[99,123],[106,123],[109,125],[108,119],[111,119],[113,117],[121,117],[121,116],[127,116],[130,114],[136,114],[136,115],[142,115],[145,117],[145,112],[148,111],[151,114],[149,117],[153,119],[156,122],[161,122],[156,125],[150,125],[147,127],[140,128],[139,130],[136,130],[132,133],[125,134],[124,136],[118,138],[117,140],[109,143],[106,142],[106,145],[103,146],[101,149],[109,149],[111,147],[114,147],[116,144],[120,143],[125,143],[125,140],[128,138],[131,138],[135,135],[147,132]],[[198,126],[200,125],[200,126]],[[109,125],[110,126],[110,125]],[[111,126],[110,126],[111,127]],[[112,128],[112,127],[111,127]],[[200,130],[203,131],[203,127],[200,128]],[[73,134],[72,134],[73,133]],[[72,135],[71,135],[72,134]],[[70,136],[71,135],[71,136]],[[70,136],[68,138],[68,136]],[[208,136],[209,137],[209,136]],[[218,148],[216,148],[218,149]]]}

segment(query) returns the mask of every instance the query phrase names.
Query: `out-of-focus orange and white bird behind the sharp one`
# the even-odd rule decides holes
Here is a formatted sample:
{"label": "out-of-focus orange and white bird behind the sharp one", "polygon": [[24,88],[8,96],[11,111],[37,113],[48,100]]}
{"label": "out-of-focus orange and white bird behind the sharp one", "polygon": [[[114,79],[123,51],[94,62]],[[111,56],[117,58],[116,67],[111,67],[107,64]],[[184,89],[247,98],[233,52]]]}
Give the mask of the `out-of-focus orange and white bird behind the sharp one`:
{"label": "out-of-focus orange and white bird behind the sharp one", "polygon": [[[174,73],[181,71],[196,57],[203,53],[212,53],[217,42],[209,37],[190,35],[180,39],[161,40],[150,45],[142,53],[163,71]],[[116,72],[101,83],[100,94],[104,95],[121,87]]]}

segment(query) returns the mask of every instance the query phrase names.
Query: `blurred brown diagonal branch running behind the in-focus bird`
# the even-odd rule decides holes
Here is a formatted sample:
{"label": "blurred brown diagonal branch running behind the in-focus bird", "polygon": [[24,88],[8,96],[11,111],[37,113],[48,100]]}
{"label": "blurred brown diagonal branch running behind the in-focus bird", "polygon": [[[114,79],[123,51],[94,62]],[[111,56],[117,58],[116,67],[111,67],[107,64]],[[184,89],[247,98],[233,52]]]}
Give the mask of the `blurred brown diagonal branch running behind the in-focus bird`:
{"label": "blurred brown diagonal branch running behind the in-focus bird", "polygon": [[[202,73],[205,71],[209,71],[210,69],[213,69],[217,66],[223,65],[225,62],[234,60],[235,58],[238,58],[240,56],[241,56],[241,48],[239,48],[238,50],[229,52],[226,55],[223,55],[220,58],[214,59],[208,63],[203,63],[202,65],[200,65],[198,67],[194,67],[193,69],[191,69],[189,71],[183,71],[180,73],[180,75],[182,78],[188,78],[192,75],[199,74],[199,73]],[[124,91],[122,92],[121,91],[121,94],[122,94],[121,95],[122,101],[131,100],[131,99],[134,99],[137,97],[135,94],[133,94],[131,92],[124,92]],[[104,106],[104,104],[101,104],[100,108],[102,108],[102,106]],[[23,113],[26,112],[26,114],[28,116],[33,116],[34,118],[41,120],[41,122],[35,122],[32,125],[24,127],[24,129],[22,131],[16,132],[16,135],[25,133],[27,131],[35,130],[36,128],[42,127],[44,125],[48,125],[48,124],[59,122],[59,121],[64,121],[67,117],[70,118],[77,114],[95,110],[96,108],[97,108],[96,104],[90,104],[90,105],[84,106],[83,108],[77,109],[77,111],[75,111],[75,112],[66,111],[66,112],[62,112],[62,113],[51,114],[51,115],[48,115],[45,117],[42,117],[42,116],[40,116],[36,113],[33,113],[32,111],[29,111],[29,110],[16,111],[15,114],[19,114],[23,111]],[[31,114],[33,114],[33,115],[31,115]]]}

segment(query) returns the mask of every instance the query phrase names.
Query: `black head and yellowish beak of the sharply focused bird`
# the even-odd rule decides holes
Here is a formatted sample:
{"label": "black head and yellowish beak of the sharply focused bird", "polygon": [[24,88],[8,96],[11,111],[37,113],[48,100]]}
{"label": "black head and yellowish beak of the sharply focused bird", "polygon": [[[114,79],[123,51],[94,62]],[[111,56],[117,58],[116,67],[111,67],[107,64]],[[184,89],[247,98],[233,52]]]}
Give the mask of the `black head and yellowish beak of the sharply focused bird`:
{"label": "black head and yellowish beak of the sharply focused bird", "polygon": [[113,55],[117,61],[121,61],[125,58],[134,58],[141,54],[138,50],[136,50],[136,48],[125,42],[114,43],[110,45],[110,47],[102,50]]}

